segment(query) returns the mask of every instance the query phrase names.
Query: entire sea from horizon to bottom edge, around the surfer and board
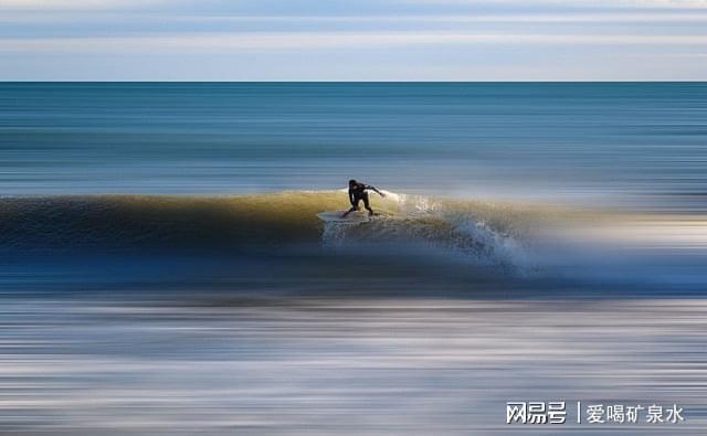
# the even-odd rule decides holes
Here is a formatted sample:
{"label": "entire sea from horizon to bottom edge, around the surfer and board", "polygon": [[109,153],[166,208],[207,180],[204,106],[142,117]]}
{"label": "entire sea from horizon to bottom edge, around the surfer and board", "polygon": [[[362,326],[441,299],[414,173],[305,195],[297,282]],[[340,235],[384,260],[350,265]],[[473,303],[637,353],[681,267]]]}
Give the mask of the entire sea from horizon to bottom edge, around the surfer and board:
{"label": "entire sea from horizon to bottom edge, around the surfer and board", "polygon": [[706,169],[704,83],[0,83],[0,433],[704,434]]}

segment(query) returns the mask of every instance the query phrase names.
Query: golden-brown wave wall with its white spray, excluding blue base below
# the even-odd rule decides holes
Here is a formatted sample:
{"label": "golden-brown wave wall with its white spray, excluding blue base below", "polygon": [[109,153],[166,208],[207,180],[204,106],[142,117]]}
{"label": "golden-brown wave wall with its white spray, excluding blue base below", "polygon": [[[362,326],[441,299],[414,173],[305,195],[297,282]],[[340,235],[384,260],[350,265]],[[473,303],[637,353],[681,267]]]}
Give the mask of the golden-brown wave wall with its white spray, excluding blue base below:
{"label": "golden-brown wave wall with its white spray, excluding blue base below", "polygon": [[234,196],[88,195],[6,198],[0,247],[7,253],[120,249],[268,249],[319,244],[426,247],[503,264],[517,249],[518,216],[504,208],[389,192],[368,223],[325,223],[346,206],[340,191]]}

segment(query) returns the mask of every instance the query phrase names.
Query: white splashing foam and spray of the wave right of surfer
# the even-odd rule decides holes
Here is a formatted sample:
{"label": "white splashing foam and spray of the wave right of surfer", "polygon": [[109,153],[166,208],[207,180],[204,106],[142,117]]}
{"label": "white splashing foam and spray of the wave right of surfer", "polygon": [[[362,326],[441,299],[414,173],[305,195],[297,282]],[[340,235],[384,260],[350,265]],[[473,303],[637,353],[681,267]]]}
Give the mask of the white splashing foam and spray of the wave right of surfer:
{"label": "white splashing foam and spray of the wave right of surfer", "polygon": [[[327,222],[323,244],[445,256],[476,265],[527,266],[520,243],[523,216],[508,206],[388,192],[382,217],[349,224]],[[517,214],[517,212],[516,212]]]}

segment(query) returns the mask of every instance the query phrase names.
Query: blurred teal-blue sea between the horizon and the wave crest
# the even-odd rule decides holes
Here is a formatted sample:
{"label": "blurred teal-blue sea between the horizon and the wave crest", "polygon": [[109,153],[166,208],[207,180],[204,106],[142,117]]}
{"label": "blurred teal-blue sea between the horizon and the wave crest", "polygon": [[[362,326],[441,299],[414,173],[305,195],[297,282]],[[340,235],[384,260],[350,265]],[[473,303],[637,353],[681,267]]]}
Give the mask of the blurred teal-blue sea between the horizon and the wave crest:
{"label": "blurred teal-blue sea between the horizon and the wave crest", "polygon": [[3,83],[0,190],[342,187],[703,210],[705,83]]}

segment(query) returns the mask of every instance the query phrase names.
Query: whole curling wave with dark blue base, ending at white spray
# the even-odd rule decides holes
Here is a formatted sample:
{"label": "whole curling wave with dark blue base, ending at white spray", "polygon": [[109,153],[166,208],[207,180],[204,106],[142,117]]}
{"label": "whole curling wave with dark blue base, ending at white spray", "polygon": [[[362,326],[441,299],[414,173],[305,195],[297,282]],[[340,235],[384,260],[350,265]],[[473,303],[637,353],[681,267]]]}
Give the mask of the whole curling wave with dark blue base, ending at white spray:
{"label": "whole curling wave with dark blue base, ending at white spray", "polygon": [[317,216],[346,205],[345,191],[4,198],[0,280],[21,293],[440,295],[519,268],[526,212],[388,192],[369,222]]}

